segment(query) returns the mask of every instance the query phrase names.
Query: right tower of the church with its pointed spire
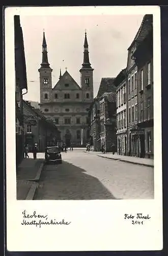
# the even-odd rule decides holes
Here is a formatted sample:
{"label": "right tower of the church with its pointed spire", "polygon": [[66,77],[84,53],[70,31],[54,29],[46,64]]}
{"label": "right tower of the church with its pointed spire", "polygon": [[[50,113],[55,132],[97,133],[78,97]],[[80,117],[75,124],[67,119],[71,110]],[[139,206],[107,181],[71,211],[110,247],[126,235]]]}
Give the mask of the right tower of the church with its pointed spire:
{"label": "right tower of the church with its pointed spire", "polygon": [[88,51],[88,40],[87,33],[85,32],[85,42],[84,42],[84,52],[83,52],[83,64],[80,72],[80,84],[82,90],[82,99],[86,102],[93,101],[93,70],[91,63],[89,62],[89,51]]}

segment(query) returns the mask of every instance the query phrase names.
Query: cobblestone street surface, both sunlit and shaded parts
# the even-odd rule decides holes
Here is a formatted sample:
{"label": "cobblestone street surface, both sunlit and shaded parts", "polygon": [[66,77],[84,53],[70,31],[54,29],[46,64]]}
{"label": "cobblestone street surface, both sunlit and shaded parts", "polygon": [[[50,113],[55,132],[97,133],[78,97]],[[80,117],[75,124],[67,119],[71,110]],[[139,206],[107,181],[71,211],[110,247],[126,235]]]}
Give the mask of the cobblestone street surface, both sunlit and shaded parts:
{"label": "cobblestone street surface, both sunlit and shaded parts", "polygon": [[62,159],[44,167],[35,200],[154,198],[152,167],[81,151],[62,153]]}

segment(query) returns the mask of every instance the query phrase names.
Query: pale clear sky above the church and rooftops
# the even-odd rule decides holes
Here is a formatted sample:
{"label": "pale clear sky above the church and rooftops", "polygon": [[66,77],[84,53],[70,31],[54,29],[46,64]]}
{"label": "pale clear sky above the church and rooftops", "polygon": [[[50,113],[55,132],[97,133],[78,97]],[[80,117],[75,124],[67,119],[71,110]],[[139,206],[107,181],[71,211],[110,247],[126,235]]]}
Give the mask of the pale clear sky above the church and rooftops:
{"label": "pale clear sky above the church and rooftops", "polygon": [[[116,77],[127,65],[127,49],[142,23],[144,15],[22,16],[28,93],[26,100],[40,102],[38,69],[42,62],[43,29],[48,61],[52,71],[52,87],[67,71],[80,86],[85,29],[94,79],[94,97],[102,77]],[[32,82],[33,81],[33,82]]]}

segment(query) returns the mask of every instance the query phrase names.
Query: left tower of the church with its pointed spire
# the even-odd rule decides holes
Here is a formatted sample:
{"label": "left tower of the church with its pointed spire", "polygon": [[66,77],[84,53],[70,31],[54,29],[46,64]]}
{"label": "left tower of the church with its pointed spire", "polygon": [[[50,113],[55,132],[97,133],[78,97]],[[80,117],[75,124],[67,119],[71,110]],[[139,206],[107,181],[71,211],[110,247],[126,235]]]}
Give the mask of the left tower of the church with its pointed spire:
{"label": "left tower of the church with its pointed spire", "polygon": [[47,44],[46,44],[44,32],[43,32],[43,44],[42,44],[42,63],[38,71],[40,73],[40,103],[47,103],[51,101],[52,69],[49,67],[49,63],[48,63]]}

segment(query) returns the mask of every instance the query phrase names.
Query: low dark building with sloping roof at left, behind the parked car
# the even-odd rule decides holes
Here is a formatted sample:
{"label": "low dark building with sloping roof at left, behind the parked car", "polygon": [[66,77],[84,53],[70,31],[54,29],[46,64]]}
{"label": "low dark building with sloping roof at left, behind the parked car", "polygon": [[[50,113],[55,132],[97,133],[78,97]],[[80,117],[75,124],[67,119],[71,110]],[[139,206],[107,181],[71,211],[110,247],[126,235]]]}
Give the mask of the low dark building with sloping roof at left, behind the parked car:
{"label": "low dark building with sloping roof at left, behind the parked car", "polygon": [[44,152],[45,146],[58,145],[60,132],[55,124],[47,120],[39,109],[35,109],[29,101],[23,101],[24,113],[24,136],[25,144],[29,150],[35,143],[38,144],[38,151]]}

